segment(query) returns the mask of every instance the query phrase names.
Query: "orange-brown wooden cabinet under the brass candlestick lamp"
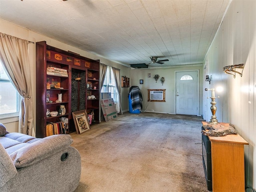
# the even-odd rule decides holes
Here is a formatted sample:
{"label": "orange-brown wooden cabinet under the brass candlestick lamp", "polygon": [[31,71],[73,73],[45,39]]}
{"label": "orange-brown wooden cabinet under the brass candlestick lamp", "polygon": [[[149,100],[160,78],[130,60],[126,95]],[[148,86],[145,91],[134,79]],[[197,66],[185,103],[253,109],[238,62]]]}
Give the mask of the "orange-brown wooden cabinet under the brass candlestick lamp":
{"label": "orange-brown wooden cabinet under the brass candlestick lamp", "polygon": [[[220,125],[228,126],[228,123]],[[244,145],[248,142],[238,134],[208,138],[211,142],[212,191],[244,192]]]}

